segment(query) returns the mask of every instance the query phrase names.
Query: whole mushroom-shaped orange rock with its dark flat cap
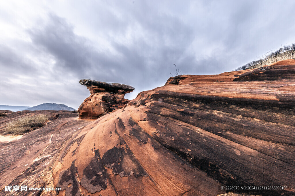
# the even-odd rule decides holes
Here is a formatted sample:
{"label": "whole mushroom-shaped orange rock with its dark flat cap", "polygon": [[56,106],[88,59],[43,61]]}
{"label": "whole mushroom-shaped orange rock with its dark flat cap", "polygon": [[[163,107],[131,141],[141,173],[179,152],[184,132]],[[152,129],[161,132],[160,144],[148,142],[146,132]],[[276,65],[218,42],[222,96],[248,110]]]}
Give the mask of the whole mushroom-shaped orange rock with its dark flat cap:
{"label": "whole mushroom-shaped orange rock with its dark flat cap", "polygon": [[84,100],[78,109],[79,118],[96,119],[99,116],[123,108],[130,100],[124,99],[125,93],[134,91],[129,85],[106,83],[90,79],[80,80],[91,95]]}

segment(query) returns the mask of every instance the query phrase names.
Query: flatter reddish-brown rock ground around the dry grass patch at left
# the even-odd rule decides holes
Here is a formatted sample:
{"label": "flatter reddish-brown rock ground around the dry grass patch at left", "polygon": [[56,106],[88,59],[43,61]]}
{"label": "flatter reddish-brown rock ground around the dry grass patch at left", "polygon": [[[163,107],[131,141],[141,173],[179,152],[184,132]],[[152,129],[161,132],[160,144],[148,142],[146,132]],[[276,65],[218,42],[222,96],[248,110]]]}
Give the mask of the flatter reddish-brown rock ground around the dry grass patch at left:
{"label": "flatter reddish-brown rock ground around the dry grass patch at left", "polygon": [[[56,195],[56,191],[29,191],[29,187],[54,187],[52,170],[61,149],[89,120],[78,119],[78,114],[71,111],[25,110],[6,114],[0,118],[0,131],[6,123],[24,116],[45,114],[50,122],[14,140],[3,141],[8,136],[0,136],[0,195]],[[4,189],[22,185],[28,186],[27,191]]]}

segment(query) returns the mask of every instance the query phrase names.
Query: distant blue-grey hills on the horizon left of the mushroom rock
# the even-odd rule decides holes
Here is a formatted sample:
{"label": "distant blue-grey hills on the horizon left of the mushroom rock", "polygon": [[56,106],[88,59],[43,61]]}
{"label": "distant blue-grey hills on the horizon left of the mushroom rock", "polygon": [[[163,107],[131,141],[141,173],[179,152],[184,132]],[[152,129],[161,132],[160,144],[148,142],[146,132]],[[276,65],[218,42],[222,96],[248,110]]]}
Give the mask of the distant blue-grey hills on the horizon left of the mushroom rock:
{"label": "distant blue-grey hills on the horizon left of the mushroom rock", "polygon": [[14,106],[14,105],[0,105],[0,110],[12,110],[14,112],[16,111],[22,111],[22,110],[75,110],[74,108],[68,107],[64,104],[58,104],[58,103],[43,103],[40,105],[36,105],[33,107],[28,106]]}

